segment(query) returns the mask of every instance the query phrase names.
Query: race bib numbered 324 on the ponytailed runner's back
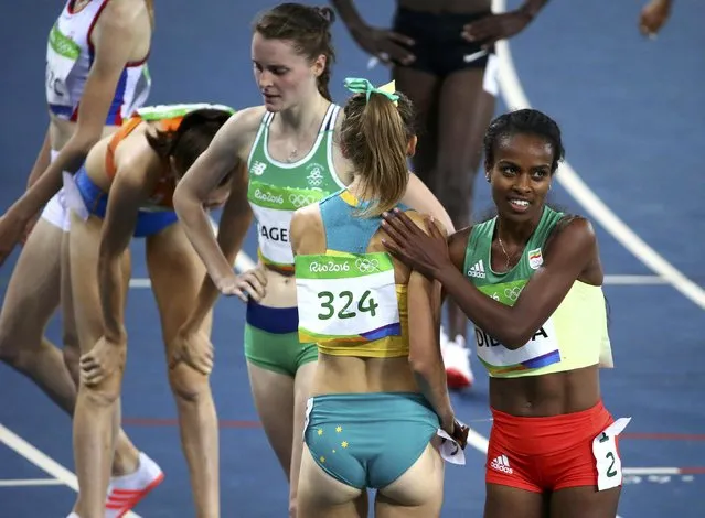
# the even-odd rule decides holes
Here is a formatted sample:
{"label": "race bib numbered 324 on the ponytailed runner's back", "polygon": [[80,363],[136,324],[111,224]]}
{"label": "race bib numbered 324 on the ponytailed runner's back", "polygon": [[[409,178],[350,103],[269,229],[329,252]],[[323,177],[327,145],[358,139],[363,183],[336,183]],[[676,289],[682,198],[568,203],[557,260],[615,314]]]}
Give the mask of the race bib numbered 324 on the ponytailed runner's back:
{"label": "race bib numbered 324 on the ponytailed runner's back", "polygon": [[387,253],[298,256],[296,283],[302,343],[354,344],[402,334]]}

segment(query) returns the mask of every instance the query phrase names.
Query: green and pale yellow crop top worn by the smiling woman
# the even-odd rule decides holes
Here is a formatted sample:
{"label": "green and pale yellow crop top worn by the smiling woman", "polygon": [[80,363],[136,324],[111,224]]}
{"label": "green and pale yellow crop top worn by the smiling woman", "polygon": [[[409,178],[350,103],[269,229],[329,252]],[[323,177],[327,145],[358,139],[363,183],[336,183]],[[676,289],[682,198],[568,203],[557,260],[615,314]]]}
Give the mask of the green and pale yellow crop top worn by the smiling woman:
{"label": "green and pale yellow crop top worn by the smiling woman", "polygon": [[[563,213],[545,207],[520,261],[511,270],[492,270],[496,218],[476,225],[468,238],[463,272],[485,295],[514,305],[533,273],[543,265],[543,249]],[[517,349],[509,349],[476,326],[478,358],[494,377],[536,376],[611,363],[602,288],[575,281],[556,311]]]}

